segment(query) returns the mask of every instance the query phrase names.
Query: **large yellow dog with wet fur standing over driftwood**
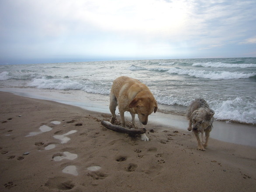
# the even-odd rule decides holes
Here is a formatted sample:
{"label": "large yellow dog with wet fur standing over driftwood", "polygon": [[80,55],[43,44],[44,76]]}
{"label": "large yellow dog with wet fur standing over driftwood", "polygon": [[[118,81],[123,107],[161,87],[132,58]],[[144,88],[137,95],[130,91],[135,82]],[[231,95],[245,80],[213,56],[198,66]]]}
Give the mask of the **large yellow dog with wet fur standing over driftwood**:
{"label": "large yellow dog with wet fur standing over driftwood", "polygon": [[[135,126],[135,114],[138,114],[138,119],[142,128],[144,128],[144,125],[148,123],[148,116],[153,111],[156,113],[157,110],[156,99],[149,88],[137,79],[127,76],[118,77],[113,82],[109,105],[112,114],[111,123],[114,123],[116,119],[115,110],[117,106],[120,112],[122,127],[126,127],[125,111],[131,113],[133,126]],[[141,139],[149,141],[145,134],[141,135]]]}

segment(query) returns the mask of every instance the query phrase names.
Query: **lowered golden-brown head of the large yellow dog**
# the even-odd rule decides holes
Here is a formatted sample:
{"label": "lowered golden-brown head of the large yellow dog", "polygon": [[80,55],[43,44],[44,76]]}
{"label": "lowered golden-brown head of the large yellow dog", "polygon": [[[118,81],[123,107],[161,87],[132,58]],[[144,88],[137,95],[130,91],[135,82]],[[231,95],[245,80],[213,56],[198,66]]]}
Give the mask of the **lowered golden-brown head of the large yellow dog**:
{"label": "lowered golden-brown head of the large yellow dog", "polygon": [[138,114],[139,121],[146,125],[149,115],[154,111],[156,113],[157,103],[152,94],[140,94],[129,103],[129,108],[132,108],[134,113]]}

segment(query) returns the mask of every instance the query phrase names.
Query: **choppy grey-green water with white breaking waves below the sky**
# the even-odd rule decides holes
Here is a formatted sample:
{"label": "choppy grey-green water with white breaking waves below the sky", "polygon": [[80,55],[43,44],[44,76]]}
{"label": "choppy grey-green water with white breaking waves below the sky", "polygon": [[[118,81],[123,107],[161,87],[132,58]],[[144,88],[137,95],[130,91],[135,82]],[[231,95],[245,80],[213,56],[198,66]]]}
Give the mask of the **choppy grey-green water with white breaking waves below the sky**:
{"label": "choppy grey-green water with white breaking waves below the sky", "polygon": [[86,96],[108,106],[112,82],[121,75],[145,83],[164,113],[184,115],[201,97],[216,120],[256,124],[256,58],[0,65],[0,90],[38,92],[52,100],[58,95],[80,103]]}

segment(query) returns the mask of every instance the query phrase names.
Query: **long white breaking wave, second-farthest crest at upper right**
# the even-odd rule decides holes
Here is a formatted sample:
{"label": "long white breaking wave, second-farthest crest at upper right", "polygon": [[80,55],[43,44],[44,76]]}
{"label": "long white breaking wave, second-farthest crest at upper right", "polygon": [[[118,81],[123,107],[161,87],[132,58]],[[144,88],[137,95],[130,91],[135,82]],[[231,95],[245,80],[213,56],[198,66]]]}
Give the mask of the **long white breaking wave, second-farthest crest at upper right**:
{"label": "long white breaking wave, second-farthest crest at upper right", "polygon": [[170,69],[168,71],[170,74],[178,75],[189,75],[196,78],[204,79],[245,79],[256,75],[253,73],[243,73],[243,72],[225,72],[225,71],[204,71],[204,70],[194,70],[194,69]]}

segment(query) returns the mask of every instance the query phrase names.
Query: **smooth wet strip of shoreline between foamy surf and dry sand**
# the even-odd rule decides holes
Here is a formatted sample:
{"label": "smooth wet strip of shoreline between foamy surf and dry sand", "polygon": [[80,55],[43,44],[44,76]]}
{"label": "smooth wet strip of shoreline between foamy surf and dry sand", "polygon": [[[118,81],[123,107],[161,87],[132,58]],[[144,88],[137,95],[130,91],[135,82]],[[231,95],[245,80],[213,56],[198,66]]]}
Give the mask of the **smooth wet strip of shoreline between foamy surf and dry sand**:
{"label": "smooth wet strip of shoreline between foamy surf and dry sand", "polygon": [[[100,99],[93,94],[81,92],[79,90],[44,90],[44,89],[28,89],[28,88],[0,88],[0,91],[13,93],[19,96],[25,96],[35,99],[51,100],[58,103],[78,106],[85,110],[95,111],[99,113],[110,114],[108,109],[108,96],[100,95]],[[162,110],[160,110],[162,111]],[[116,110],[118,115],[118,108]],[[131,119],[129,113],[125,113],[127,120]],[[136,117],[135,120],[138,120]],[[152,121],[161,126],[172,126],[180,130],[186,130],[188,121],[186,117],[181,115],[173,115],[157,111],[149,116],[149,121]],[[147,126],[146,126],[147,127]],[[248,125],[243,123],[232,123],[214,120],[213,130],[210,137],[219,141],[225,141],[234,144],[248,145],[256,147],[256,125]],[[188,131],[187,131],[188,132]]]}

